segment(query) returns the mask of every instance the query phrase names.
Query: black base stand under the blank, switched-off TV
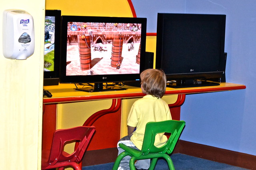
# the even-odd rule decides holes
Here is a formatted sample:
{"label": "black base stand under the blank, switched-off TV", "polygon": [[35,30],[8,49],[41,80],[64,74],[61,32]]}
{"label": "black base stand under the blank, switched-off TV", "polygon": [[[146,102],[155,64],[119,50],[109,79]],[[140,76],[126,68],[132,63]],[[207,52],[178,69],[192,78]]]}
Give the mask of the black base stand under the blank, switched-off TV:
{"label": "black base stand under the blank, switched-off TV", "polygon": [[206,81],[206,80],[179,80],[176,82],[168,82],[166,87],[171,88],[187,88],[187,87],[206,87],[206,86],[217,86],[220,83]]}

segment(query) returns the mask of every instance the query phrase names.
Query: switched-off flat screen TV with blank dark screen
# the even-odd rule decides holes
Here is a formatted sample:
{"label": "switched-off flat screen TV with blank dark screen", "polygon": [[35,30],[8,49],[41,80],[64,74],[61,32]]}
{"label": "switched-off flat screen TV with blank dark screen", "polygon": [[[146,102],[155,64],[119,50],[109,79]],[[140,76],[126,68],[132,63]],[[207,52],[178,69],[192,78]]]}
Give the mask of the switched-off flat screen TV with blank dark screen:
{"label": "switched-off flat screen TV with blank dark screen", "polygon": [[167,87],[219,85],[225,73],[226,15],[158,13],[156,68]]}

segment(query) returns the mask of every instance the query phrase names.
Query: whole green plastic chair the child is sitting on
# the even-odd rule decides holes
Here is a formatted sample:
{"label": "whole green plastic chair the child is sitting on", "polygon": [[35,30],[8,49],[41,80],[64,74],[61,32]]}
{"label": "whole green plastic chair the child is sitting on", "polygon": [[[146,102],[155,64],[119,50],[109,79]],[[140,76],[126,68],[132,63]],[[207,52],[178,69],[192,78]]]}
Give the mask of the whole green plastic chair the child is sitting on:
{"label": "whole green plastic chair the child is sitting on", "polygon": [[[185,121],[174,120],[147,123],[142,150],[136,150],[124,144],[119,144],[119,146],[125,151],[118,155],[112,170],[117,170],[122,158],[127,155],[131,156],[129,163],[130,170],[136,170],[134,162],[135,160],[141,159],[152,159],[149,170],[154,170],[156,162],[160,157],[166,159],[170,170],[174,170],[172,159],[168,154],[172,153],[184,126]],[[171,133],[171,135],[164,146],[157,148],[154,146],[155,136],[158,133],[164,132]]]}

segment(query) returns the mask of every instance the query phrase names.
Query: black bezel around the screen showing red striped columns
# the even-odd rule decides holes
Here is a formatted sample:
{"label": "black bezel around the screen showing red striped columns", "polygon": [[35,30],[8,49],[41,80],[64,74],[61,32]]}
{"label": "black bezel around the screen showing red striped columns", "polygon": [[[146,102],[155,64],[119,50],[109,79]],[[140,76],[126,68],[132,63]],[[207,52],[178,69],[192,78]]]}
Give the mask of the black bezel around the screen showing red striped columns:
{"label": "black bezel around the screen showing red striped columns", "polygon": [[67,52],[67,23],[68,22],[106,22],[106,23],[140,23],[140,73],[145,68],[146,51],[146,18],[103,17],[103,16],[62,16],[62,43],[60,59],[60,83],[110,83],[125,81],[140,81],[140,73],[136,74],[109,74],[109,75],[66,75]]}

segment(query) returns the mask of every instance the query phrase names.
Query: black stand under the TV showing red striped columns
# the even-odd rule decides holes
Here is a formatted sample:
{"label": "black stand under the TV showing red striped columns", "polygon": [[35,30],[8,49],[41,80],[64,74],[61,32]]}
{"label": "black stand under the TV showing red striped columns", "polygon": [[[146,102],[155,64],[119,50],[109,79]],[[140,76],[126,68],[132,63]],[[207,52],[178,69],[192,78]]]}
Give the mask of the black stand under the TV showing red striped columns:
{"label": "black stand under the TV showing red striped columns", "polygon": [[75,90],[86,92],[100,92],[126,90],[126,88],[120,86],[104,86],[103,83],[94,83],[93,87],[76,88]]}

